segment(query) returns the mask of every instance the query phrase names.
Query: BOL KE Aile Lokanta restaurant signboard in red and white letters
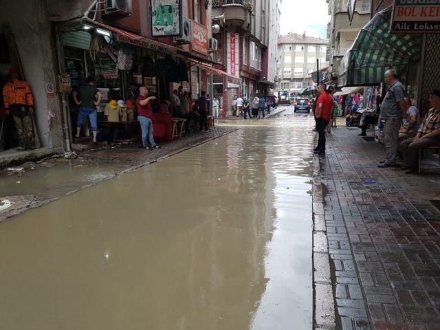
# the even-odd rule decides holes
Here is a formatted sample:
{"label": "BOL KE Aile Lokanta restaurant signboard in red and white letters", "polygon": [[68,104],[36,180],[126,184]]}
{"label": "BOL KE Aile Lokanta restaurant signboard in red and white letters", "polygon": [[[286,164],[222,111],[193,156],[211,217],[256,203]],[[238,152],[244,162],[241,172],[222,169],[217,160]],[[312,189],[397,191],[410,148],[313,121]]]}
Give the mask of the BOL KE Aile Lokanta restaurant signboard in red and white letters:
{"label": "BOL KE Aile Lokanta restaurant signboard in red and white letters", "polygon": [[440,0],[395,0],[391,33],[440,33]]}

